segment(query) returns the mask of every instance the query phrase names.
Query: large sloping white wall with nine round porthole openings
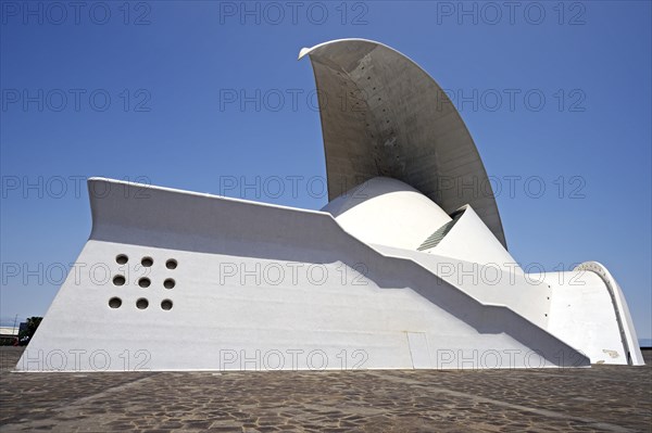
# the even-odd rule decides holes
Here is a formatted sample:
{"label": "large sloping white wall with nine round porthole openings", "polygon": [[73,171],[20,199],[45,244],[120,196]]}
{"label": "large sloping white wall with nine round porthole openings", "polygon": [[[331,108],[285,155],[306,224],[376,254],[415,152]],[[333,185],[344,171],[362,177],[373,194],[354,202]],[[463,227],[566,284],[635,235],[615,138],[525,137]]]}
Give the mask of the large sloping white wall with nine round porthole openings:
{"label": "large sloping white wall with nine round porthole openings", "polygon": [[89,190],[93,229],[79,271],[18,370],[588,365],[510,308],[380,254],[329,214],[101,179]]}

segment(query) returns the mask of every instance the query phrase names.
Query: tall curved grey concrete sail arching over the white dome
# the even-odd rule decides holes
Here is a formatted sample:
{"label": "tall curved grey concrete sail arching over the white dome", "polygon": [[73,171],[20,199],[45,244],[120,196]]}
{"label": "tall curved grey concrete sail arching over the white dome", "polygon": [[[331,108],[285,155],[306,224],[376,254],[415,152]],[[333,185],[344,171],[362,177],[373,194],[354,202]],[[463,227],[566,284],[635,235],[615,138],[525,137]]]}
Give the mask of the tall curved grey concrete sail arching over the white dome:
{"label": "tall curved grey concrete sail arching over the white dome", "polygon": [[328,200],[378,176],[399,179],[451,214],[471,205],[506,247],[487,171],[441,87],[400,52],[364,39],[301,50],[315,74]]}

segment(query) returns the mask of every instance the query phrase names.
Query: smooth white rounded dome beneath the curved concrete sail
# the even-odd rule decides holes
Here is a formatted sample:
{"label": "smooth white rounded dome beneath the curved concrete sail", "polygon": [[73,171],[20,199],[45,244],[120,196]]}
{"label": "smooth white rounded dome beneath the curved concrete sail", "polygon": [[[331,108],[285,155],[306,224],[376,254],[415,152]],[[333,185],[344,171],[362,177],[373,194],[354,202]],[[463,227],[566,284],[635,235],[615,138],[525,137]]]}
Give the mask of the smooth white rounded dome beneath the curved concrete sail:
{"label": "smooth white rounded dome beneath the curved concrete sail", "polygon": [[376,177],[328,203],[322,211],[365,243],[416,250],[451,220],[435,202],[400,180]]}

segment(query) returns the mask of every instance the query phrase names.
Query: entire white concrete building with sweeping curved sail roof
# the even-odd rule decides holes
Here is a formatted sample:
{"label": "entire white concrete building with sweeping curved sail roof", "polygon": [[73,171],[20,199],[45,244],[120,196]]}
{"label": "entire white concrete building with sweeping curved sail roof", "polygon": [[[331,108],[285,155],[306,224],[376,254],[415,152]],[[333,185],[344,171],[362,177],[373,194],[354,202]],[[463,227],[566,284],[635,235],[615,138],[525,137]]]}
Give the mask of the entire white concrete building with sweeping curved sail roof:
{"label": "entire white concrete building with sweeping curved sail roof", "polygon": [[642,365],[595,262],[528,275],[453,104],[380,43],[304,49],[322,106],[319,212],[110,179],[26,371]]}

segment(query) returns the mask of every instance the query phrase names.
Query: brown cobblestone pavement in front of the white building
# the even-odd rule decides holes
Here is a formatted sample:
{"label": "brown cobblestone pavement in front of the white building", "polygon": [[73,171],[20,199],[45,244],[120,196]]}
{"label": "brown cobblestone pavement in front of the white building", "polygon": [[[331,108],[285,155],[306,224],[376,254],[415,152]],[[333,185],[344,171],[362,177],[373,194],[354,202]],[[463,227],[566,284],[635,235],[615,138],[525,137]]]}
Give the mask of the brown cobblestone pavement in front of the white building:
{"label": "brown cobblestone pavement in front of the white building", "polygon": [[14,373],[0,431],[652,431],[645,367],[527,370]]}

